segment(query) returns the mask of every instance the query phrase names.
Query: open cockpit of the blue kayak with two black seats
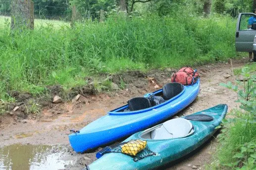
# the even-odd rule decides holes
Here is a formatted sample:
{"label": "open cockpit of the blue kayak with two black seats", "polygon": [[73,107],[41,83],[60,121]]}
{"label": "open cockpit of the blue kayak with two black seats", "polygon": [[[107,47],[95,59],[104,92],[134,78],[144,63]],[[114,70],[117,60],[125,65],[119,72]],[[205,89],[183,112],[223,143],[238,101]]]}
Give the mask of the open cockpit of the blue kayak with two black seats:
{"label": "open cockpit of the blue kayak with two black seats", "polygon": [[168,83],[162,89],[130,99],[127,105],[109,111],[108,114],[135,114],[146,112],[176,99],[184,92],[180,83]]}

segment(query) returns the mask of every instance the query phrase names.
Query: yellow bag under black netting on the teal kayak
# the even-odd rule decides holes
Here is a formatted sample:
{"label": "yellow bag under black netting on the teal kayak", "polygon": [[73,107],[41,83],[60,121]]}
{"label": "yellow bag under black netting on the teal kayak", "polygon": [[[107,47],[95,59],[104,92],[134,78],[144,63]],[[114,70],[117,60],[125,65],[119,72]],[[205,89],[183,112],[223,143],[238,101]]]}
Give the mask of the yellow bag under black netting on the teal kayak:
{"label": "yellow bag under black netting on the teal kayak", "polygon": [[121,152],[135,156],[138,152],[145,149],[147,141],[145,140],[131,140],[121,146]]}

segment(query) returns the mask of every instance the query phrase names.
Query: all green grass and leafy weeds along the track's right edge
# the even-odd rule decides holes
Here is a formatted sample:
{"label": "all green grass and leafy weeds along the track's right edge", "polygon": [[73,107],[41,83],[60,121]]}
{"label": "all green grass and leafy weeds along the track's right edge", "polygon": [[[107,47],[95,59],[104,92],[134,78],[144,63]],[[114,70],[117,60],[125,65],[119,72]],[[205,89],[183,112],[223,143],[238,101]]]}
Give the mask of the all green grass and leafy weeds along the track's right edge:
{"label": "all green grass and leafy weeds along the track's right edge", "polygon": [[233,110],[233,118],[223,120],[224,128],[219,135],[217,161],[212,168],[217,170],[256,169],[256,75],[249,67],[242,70],[244,83],[221,84],[237,92],[240,108]]}

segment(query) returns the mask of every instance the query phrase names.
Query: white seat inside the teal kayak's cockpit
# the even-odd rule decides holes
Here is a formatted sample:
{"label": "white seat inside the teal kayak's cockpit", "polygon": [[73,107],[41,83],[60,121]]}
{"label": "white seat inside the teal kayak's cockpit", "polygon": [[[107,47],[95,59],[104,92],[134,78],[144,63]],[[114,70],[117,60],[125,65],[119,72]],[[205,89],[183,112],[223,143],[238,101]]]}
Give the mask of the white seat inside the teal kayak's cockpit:
{"label": "white seat inside the teal kayak's cockpit", "polygon": [[166,121],[161,127],[151,132],[151,139],[171,139],[186,137],[193,133],[193,125],[190,121],[177,118]]}

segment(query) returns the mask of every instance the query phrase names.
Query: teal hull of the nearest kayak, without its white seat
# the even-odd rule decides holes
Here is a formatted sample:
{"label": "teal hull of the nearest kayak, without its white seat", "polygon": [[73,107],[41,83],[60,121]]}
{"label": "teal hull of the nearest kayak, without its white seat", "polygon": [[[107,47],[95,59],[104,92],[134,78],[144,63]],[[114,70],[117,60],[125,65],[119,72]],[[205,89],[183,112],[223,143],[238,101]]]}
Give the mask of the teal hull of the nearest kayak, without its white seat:
{"label": "teal hull of the nearest kayak, without its white seat", "polygon": [[132,139],[147,140],[147,145],[156,155],[134,162],[133,158],[128,155],[122,153],[108,153],[89,165],[90,170],[151,170],[189,154],[205,143],[217,130],[215,127],[220,125],[222,119],[225,117],[227,105],[217,105],[195,114],[202,114],[202,112],[206,114],[214,113],[210,115],[214,117],[214,120],[210,122],[190,121],[195,131],[187,137],[164,140],[141,138],[141,135],[147,131],[147,129],[135,133],[124,140],[124,142]]}

